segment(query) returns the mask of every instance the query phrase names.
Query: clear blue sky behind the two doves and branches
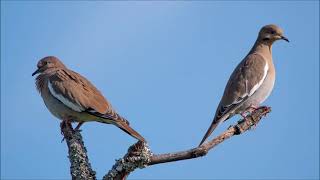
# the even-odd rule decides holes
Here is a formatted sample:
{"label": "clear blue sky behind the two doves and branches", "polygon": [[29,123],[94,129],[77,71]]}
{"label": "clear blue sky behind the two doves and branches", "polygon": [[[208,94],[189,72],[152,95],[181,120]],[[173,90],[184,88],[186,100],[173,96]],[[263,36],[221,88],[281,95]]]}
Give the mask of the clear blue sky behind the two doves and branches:
{"label": "clear blue sky behind the two doves and branches", "polygon": [[[154,153],[172,152],[199,143],[230,73],[270,23],[291,41],[273,46],[272,113],[206,157],[130,178],[318,179],[318,1],[1,1],[1,179],[70,178],[60,122],[31,77],[40,58],[55,55],[86,76]],[[111,125],[82,130],[99,178],[135,142]]]}

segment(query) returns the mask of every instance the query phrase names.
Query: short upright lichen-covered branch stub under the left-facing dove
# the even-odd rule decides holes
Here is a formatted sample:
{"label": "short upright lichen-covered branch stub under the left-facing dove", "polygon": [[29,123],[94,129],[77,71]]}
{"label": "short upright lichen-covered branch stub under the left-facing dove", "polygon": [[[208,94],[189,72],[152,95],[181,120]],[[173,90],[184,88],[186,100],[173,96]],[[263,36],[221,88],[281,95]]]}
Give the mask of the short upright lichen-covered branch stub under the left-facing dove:
{"label": "short upright lichen-covered branch stub under the left-facing dove", "polygon": [[74,131],[70,123],[61,123],[61,133],[67,142],[70,173],[73,180],[95,180],[96,173],[92,170],[87,150],[82,141],[80,131]]}

